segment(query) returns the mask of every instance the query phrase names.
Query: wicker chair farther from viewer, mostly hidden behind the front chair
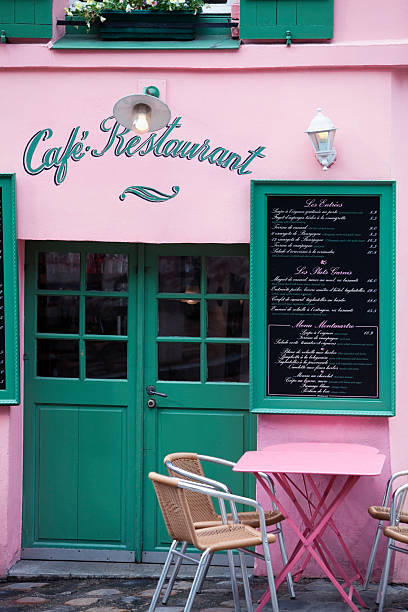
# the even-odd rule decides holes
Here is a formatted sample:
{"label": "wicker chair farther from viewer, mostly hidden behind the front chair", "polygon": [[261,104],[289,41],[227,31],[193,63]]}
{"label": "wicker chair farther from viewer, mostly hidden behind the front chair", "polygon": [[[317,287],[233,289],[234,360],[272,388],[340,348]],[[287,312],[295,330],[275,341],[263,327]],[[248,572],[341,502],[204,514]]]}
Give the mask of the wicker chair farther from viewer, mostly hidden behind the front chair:
{"label": "wicker chair farther from viewer, mostly hidden behind the front chair", "polygon": [[[164,458],[164,464],[167,467],[167,470],[170,476],[182,476],[184,479],[192,480],[193,482],[201,482],[206,486],[214,487],[218,490],[225,491],[226,493],[231,493],[229,487],[221,482],[216,480],[212,480],[207,478],[204,475],[204,470],[202,467],[203,461],[209,461],[211,463],[218,463],[220,465],[225,465],[227,467],[233,468],[235,463],[233,461],[228,461],[227,459],[220,459],[218,457],[210,457],[208,455],[198,455],[197,453],[171,453]],[[273,482],[267,474],[261,473],[261,476],[266,480],[268,486],[274,492]],[[211,527],[214,525],[219,525],[221,521],[221,516],[217,514],[214,504],[212,502],[211,497],[207,497],[206,499],[200,496],[199,503],[197,503],[195,493],[187,492],[187,499],[190,503],[191,513],[193,517],[194,526],[196,529],[202,529],[205,527]],[[231,512],[228,515],[228,520],[230,522],[241,522],[244,525],[248,525],[249,527],[253,527],[255,529],[259,529],[259,516],[257,512],[236,512],[235,506],[232,505]],[[288,556],[286,553],[285,541],[283,539],[281,521],[285,520],[285,517],[276,507],[273,507],[270,511],[265,511],[265,524],[267,527],[273,526],[269,532],[274,533],[278,536],[278,542],[280,547],[280,552],[282,556],[282,563],[286,565],[288,562]],[[259,555],[256,552],[250,551],[251,555],[263,558],[262,555]],[[210,561],[211,562],[211,561]],[[177,564],[175,566],[175,574],[177,575],[178,567]],[[205,579],[205,574],[203,576]],[[292,575],[289,573],[286,578],[289,594],[292,599],[295,598],[295,591],[293,588],[293,580]],[[201,588],[201,585],[199,585]],[[166,592],[163,603],[167,602],[168,591]]]}

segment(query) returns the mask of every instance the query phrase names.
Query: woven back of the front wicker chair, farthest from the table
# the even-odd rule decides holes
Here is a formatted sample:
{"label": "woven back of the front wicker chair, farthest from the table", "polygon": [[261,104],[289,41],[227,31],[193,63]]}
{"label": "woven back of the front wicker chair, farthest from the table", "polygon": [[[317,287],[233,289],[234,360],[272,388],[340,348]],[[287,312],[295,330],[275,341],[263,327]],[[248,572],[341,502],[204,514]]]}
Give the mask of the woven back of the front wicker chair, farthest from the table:
{"label": "woven back of the front wicker chair, farthest from the table", "polygon": [[[188,542],[197,548],[193,519],[186,499],[187,491],[179,489],[177,478],[163,476],[156,472],[150,472],[149,478],[153,483],[163,519],[172,540]],[[201,497],[205,497],[204,494],[201,494]]]}

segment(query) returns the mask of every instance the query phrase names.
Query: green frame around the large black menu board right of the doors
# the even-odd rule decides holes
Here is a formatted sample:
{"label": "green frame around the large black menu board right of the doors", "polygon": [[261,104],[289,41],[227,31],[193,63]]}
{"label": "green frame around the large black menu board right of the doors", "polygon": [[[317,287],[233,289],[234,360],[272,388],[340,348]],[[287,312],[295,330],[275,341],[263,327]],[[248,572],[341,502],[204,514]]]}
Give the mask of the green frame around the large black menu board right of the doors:
{"label": "green frame around the large black menu board right of the doors", "polygon": [[[378,291],[379,329],[377,338],[377,395],[375,397],[330,394],[271,394],[268,392],[275,364],[268,355],[268,202],[306,196],[325,198],[349,196],[357,201],[379,202]],[[279,200],[279,198],[281,198]],[[350,198],[350,201],[351,201]],[[299,200],[297,200],[299,201]],[[362,200],[363,201],[363,200]],[[371,200],[372,201],[372,200]],[[270,231],[270,230],[269,230]],[[368,228],[367,228],[368,231]],[[368,234],[367,234],[368,235]],[[368,242],[368,240],[367,240]],[[345,247],[347,249],[347,246]],[[276,257],[276,256],[275,256]],[[279,256],[278,256],[279,257]],[[299,265],[304,264],[299,257]],[[325,262],[324,262],[325,263]],[[251,334],[250,409],[254,413],[332,414],[354,416],[395,415],[395,182],[393,181],[252,181],[251,182]],[[368,312],[368,311],[367,311]],[[360,316],[361,312],[360,312]],[[364,316],[364,315],[363,315]],[[298,318],[296,319],[298,321]],[[288,326],[289,327],[289,326]],[[288,332],[289,333],[289,332]],[[271,361],[272,366],[269,361]],[[282,363],[282,361],[280,362]],[[280,364],[279,364],[280,365]],[[275,372],[278,369],[275,368]],[[277,374],[275,375],[277,377]],[[269,379],[268,379],[269,377]],[[277,385],[279,387],[279,385]]]}

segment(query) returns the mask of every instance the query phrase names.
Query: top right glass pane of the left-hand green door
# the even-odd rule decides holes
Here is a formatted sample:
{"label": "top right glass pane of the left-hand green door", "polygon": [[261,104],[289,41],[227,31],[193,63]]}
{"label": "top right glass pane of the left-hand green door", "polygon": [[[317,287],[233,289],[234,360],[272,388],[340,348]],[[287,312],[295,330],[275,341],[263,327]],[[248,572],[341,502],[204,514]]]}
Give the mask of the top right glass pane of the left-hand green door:
{"label": "top right glass pane of the left-hand green door", "polygon": [[128,256],[116,253],[88,253],[86,288],[88,291],[127,291]]}

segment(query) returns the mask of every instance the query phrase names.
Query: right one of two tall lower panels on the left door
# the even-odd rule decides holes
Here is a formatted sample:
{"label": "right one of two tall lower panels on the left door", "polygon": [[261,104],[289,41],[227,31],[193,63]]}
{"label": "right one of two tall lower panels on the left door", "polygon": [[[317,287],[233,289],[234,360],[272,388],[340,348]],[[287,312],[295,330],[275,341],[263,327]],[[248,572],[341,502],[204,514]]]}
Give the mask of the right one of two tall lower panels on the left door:
{"label": "right one of two tall lower panels on the left door", "polygon": [[124,418],[122,408],[79,410],[79,540],[121,540]]}

